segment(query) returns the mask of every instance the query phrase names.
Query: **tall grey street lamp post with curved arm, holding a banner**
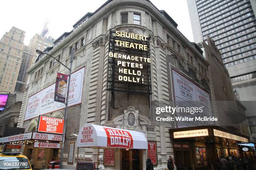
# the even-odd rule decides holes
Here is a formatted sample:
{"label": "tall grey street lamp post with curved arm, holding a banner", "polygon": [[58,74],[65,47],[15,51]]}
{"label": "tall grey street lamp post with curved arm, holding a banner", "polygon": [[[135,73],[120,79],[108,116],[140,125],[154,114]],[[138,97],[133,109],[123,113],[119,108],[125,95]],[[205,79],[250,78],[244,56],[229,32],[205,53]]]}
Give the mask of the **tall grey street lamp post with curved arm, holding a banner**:
{"label": "tall grey street lamp post with curved arm, holding a banner", "polygon": [[[44,51],[41,50],[36,50],[36,53],[38,54],[47,54]],[[53,57],[51,55],[49,55],[50,57]],[[71,79],[71,72],[72,72],[72,62],[73,62],[73,57],[74,57],[74,50],[72,48],[71,50],[71,55],[70,55],[70,68],[67,67],[66,65],[64,65],[62,62],[60,62],[59,60],[57,60],[55,57],[54,60],[58,61],[61,65],[63,65],[65,68],[67,68],[69,70],[69,82],[68,82],[68,88],[67,88],[67,100],[66,100],[66,107],[65,107],[65,115],[64,115],[64,127],[63,127],[63,134],[62,134],[62,140],[61,140],[61,156],[60,156],[60,163],[59,163],[59,168],[62,168],[62,161],[63,161],[63,153],[64,153],[64,142],[65,142],[65,133],[66,133],[66,120],[67,120],[67,109],[68,109],[68,102],[69,102],[69,86],[70,86],[70,79]]]}

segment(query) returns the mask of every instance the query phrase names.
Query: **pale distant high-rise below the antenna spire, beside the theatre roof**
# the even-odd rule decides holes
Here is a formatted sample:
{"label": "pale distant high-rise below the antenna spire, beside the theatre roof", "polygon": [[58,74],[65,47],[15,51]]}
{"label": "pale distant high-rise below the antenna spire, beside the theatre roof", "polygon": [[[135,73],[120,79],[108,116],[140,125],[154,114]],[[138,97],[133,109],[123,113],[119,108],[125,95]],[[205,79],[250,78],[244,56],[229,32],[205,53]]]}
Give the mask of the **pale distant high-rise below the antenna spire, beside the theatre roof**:
{"label": "pale distant high-rise below the antenna spire, beside the theatre roof", "polygon": [[43,51],[44,49],[46,49],[46,47],[53,46],[54,45],[53,42],[54,42],[54,38],[51,36],[44,37],[42,35],[35,34],[33,38],[31,38],[29,43],[29,52],[33,55],[33,58],[31,60],[31,65],[35,63],[36,58],[38,56],[38,54],[36,53],[36,50]]}

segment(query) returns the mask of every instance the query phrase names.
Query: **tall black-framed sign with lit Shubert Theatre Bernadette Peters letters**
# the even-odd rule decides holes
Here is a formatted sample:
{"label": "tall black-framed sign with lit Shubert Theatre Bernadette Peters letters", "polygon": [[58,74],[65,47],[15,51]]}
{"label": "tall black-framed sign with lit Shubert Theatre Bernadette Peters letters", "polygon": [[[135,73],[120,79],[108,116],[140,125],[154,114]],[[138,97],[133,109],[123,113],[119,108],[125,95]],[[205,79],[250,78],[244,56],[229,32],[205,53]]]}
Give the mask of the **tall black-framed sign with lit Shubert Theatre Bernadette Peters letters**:
{"label": "tall black-framed sign with lit Shubert Theatre Bernadette Peters letters", "polygon": [[149,40],[145,35],[110,32],[108,90],[151,93]]}

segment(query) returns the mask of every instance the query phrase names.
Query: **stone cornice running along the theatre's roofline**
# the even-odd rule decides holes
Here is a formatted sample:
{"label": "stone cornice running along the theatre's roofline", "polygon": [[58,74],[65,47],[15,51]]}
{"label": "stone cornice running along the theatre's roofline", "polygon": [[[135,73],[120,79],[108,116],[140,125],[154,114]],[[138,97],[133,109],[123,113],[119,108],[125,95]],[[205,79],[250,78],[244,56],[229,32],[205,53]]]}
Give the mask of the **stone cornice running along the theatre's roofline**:
{"label": "stone cornice running along the theatre's roofline", "polygon": [[[84,30],[87,30],[88,28],[92,27],[95,23],[97,23],[98,20],[105,18],[108,16],[109,13],[112,13],[113,10],[115,10],[117,7],[124,7],[124,6],[134,6],[134,7],[141,7],[148,11],[148,13],[151,14],[152,17],[154,17],[155,20],[161,21],[161,24],[163,24],[168,30],[171,30],[174,34],[176,34],[177,37],[180,37],[180,39],[188,46],[192,51],[194,51],[195,54],[197,54],[199,57],[201,57],[204,62],[208,63],[207,60],[203,58],[203,56],[198,52],[195,47],[193,47],[189,40],[187,40],[184,35],[182,35],[179,30],[177,30],[166,18],[164,18],[163,15],[159,12],[156,7],[154,7],[151,3],[145,0],[114,0],[110,2],[105,7],[102,7],[97,13],[92,15],[92,17],[87,20],[83,25],[81,25],[77,30],[73,31],[67,38],[65,38],[59,45],[54,47],[49,54],[54,55],[55,52],[60,50],[65,45],[68,45],[77,35],[79,35]],[[27,70],[27,73],[30,74],[33,72],[35,68],[37,68],[39,65],[44,63],[49,58],[48,55],[44,56],[41,60],[36,62],[30,69]]]}

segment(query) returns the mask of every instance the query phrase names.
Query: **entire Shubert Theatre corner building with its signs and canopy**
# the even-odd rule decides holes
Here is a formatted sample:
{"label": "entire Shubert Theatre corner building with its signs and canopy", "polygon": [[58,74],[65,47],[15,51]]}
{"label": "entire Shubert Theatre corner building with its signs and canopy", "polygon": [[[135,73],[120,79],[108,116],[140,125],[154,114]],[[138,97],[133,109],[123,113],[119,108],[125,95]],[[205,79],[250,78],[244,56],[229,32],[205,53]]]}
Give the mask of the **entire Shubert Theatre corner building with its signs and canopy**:
{"label": "entire Shubert Theatre corner building with its signs and canopy", "polygon": [[[184,148],[201,146],[196,139],[187,142],[187,138],[174,138],[170,131],[201,124],[156,121],[158,116],[173,116],[156,114],[156,108],[184,106],[190,100],[195,103],[189,105],[204,106],[205,116],[220,117],[211,80],[218,75],[210,74],[200,47],[179,32],[177,23],[164,10],[148,0],[108,0],[79,19],[73,28],[45,50],[67,67],[74,51],[63,168],[75,168],[78,160],[81,165],[94,162],[108,170],[145,170],[149,157],[154,168],[162,170],[167,168],[169,155],[184,160],[180,153],[175,154],[176,141],[182,140],[179,145],[183,147],[184,143]],[[38,131],[39,115],[64,117],[65,105],[54,101],[54,90],[57,73],[68,75],[69,70],[49,55],[38,55],[27,71],[28,84],[18,120],[25,134],[32,133],[33,143],[37,142],[34,133],[46,133]],[[191,90],[191,95],[184,97],[181,85]],[[207,139],[216,136],[214,129],[219,130],[204,129],[208,130],[203,137]],[[237,132],[233,135],[246,138]],[[59,159],[59,154],[52,158],[53,148],[34,146],[31,152],[36,156],[31,159],[37,168],[39,163],[47,168],[49,160]],[[189,156],[192,167],[197,158],[195,150]]]}

